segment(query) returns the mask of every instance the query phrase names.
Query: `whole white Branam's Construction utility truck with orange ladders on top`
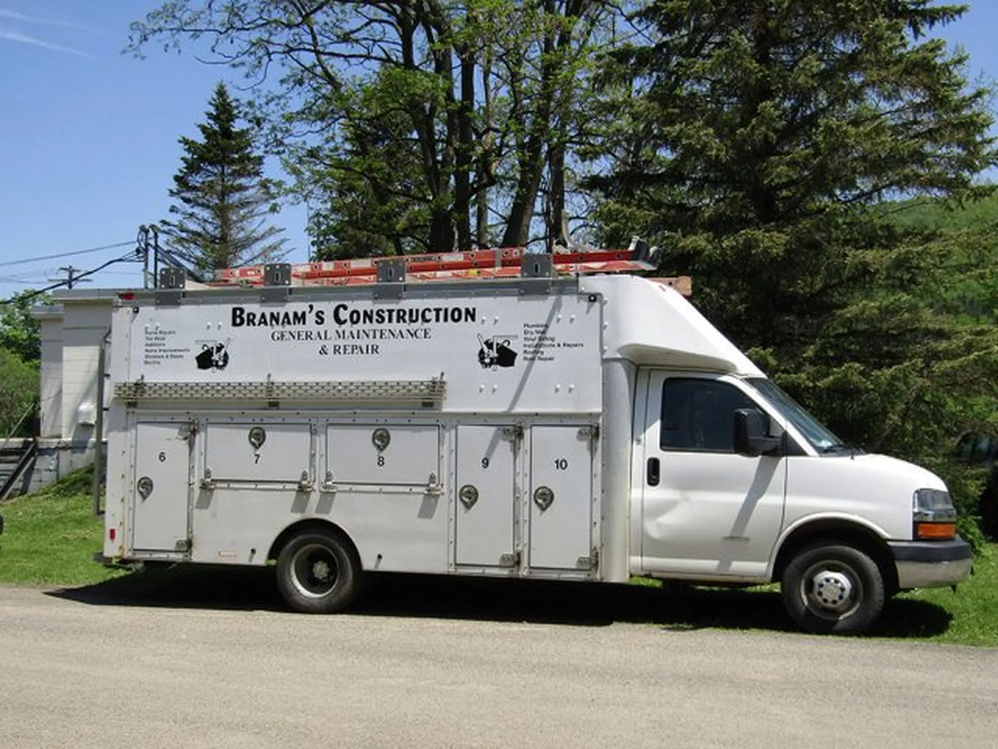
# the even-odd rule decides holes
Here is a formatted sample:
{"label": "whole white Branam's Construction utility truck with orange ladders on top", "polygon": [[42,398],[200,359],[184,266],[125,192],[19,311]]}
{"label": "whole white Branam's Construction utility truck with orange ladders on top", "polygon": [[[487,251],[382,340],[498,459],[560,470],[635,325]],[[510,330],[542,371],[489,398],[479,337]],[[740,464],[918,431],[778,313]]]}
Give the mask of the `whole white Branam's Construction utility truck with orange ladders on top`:
{"label": "whole white Branam's Construction utility truck with orange ladders on top", "polygon": [[812,632],[970,574],[937,476],[842,445],[665,281],[587,273],[642,254],[120,294],[103,556],[275,562],[306,612],[382,570],[778,581]]}

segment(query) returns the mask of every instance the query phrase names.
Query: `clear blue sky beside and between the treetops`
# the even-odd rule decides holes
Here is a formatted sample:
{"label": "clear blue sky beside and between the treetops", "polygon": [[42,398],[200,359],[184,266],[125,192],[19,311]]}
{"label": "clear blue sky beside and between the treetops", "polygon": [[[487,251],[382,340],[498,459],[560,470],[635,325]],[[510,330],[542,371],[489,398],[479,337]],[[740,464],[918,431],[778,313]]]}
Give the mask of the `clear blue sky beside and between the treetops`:
{"label": "clear blue sky beside and between the treetops", "polygon": [[[165,218],[181,135],[196,135],[216,82],[240,83],[187,51],[122,54],[131,21],[154,0],[0,0],[0,299],[128,252]],[[998,78],[998,0],[976,0],[942,31]],[[305,212],[286,206],[288,260],[306,259]],[[39,260],[51,255],[103,251]],[[118,264],[82,288],[141,285]]]}

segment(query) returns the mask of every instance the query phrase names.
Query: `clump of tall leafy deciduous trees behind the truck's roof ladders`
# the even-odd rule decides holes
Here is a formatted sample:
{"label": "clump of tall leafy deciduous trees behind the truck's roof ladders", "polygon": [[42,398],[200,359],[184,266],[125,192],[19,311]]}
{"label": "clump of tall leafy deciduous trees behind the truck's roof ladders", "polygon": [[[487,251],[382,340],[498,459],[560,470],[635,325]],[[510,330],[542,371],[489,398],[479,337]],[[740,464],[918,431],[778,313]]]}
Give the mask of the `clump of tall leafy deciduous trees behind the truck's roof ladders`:
{"label": "clump of tall leafy deciduous trees behind the truck's roof ladders", "polygon": [[550,246],[587,71],[617,15],[593,0],[176,0],[132,41],[208,38],[261,84],[256,112],[319,254]]}

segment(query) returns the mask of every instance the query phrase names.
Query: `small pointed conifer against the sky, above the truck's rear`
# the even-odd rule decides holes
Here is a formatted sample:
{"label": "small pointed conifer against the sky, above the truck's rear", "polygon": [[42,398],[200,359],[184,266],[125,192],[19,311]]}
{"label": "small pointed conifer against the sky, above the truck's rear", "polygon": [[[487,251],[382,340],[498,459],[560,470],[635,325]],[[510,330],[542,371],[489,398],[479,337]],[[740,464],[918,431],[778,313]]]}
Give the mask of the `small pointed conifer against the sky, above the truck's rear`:
{"label": "small pointed conifer against the sky, above the truck's rear", "polygon": [[201,270],[274,260],[286,241],[266,225],[273,193],[263,178],[263,157],[249,128],[238,128],[239,111],[220,83],[198,126],[201,140],[181,138],[181,170],[174,176],[170,207],[176,221],[163,222],[170,247]]}

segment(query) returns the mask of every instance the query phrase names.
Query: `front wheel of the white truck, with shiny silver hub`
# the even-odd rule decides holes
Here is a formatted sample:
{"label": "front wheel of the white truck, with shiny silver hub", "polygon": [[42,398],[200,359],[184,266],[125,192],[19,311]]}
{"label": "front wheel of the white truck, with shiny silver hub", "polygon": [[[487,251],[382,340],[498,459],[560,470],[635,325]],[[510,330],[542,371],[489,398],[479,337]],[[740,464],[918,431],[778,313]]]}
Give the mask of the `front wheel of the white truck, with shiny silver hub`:
{"label": "front wheel of the white truck, with shiny silver hub", "polygon": [[859,634],[883,610],[880,568],[866,553],[844,544],[800,551],[783,570],[783,605],[806,632]]}

